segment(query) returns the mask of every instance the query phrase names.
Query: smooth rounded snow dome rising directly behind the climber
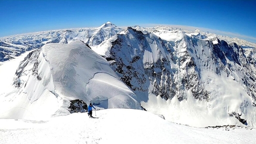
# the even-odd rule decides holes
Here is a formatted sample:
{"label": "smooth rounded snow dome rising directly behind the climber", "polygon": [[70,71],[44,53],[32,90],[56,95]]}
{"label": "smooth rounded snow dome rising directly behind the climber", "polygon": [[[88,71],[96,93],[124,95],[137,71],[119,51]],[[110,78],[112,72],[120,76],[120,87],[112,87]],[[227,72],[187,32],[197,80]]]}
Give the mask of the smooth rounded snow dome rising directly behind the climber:
{"label": "smooth rounded snow dome rising directly behind the climber", "polygon": [[[85,102],[101,99],[108,102],[105,108],[139,108],[135,94],[118,80],[108,62],[85,43],[46,45],[42,53],[51,68],[55,93],[61,97]],[[112,89],[112,93],[104,89]]]}

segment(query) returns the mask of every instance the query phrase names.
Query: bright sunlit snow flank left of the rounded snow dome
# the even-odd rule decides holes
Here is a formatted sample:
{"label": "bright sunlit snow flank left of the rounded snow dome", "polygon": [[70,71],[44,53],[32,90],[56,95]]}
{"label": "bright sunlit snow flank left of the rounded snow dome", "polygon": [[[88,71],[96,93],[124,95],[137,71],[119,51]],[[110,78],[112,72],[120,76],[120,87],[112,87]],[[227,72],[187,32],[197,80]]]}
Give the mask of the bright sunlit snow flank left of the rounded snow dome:
{"label": "bright sunlit snow flank left of the rounded snow dome", "polygon": [[[2,83],[4,86],[1,84],[0,118],[43,119],[53,115],[60,108],[58,101],[61,99],[56,98],[47,90],[52,90],[51,75],[48,75],[48,81],[38,81],[40,77],[37,77],[38,71],[34,68],[34,65],[38,67],[38,62],[36,62],[38,55],[39,50],[33,51],[25,58],[18,57],[17,60],[7,61],[1,65],[1,68],[4,68],[0,70],[1,80],[5,83]],[[21,61],[20,58],[24,60]],[[18,68],[16,73],[14,68]],[[8,73],[2,73],[2,71],[8,71]],[[43,75],[47,76],[47,74]],[[35,80],[34,83],[33,80]],[[46,84],[45,82],[48,84],[45,87],[41,86],[41,84]]]}

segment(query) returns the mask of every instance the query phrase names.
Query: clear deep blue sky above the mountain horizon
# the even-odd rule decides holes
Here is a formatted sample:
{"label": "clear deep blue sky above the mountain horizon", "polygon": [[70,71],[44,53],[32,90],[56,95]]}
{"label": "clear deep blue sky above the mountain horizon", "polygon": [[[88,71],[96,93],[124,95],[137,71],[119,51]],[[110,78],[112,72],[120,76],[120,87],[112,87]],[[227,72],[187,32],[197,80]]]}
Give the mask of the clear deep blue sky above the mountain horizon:
{"label": "clear deep blue sky above the mountain horizon", "polygon": [[172,25],[239,37],[256,43],[256,1],[0,0],[0,37],[44,30]]}

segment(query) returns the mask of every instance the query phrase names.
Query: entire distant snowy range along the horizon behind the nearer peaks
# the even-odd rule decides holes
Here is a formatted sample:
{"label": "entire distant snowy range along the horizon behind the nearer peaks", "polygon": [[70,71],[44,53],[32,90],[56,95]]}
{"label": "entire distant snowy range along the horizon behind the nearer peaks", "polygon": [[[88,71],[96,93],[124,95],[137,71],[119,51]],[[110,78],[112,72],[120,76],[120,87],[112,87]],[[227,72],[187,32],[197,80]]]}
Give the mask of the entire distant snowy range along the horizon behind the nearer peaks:
{"label": "entire distant snowy range along the horizon behind the nearer peaks", "polygon": [[[200,39],[211,39],[216,37],[224,40],[227,43],[237,43],[242,48],[256,48],[256,43],[247,42],[246,40],[238,39],[237,37],[221,36],[209,32],[201,32],[200,30],[189,31],[170,26],[156,27],[140,27],[133,26],[134,29],[140,30],[143,33],[154,33],[161,37],[168,35],[169,32],[182,31],[187,35],[194,35]],[[123,32],[123,27],[117,27],[113,23],[107,22],[100,27],[80,28],[80,29],[65,29],[51,30],[46,32],[26,33],[21,35],[0,37],[0,61],[13,59],[26,51],[38,49],[46,43],[68,43],[73,40],[82,40],[89,46],[98,46],[104,40],[110,39],[112,36]],[[157,34],[158,33],[158,34]],[[174,35],[168,35],[174,36]],[[167,39],[171,39],[168,37]]]}

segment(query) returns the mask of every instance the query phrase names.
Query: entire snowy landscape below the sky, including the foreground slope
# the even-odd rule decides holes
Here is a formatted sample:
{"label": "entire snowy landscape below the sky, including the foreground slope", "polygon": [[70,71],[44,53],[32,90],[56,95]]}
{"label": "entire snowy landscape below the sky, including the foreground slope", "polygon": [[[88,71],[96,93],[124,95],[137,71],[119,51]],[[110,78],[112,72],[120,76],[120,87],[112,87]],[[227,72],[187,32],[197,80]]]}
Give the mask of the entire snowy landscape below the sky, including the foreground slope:
{"label": "entire snowy landscape below the sky, including the foreground slope", "polygon": [[2,39],[35,49],[2,55],[0,143],[255,143],[255,49],[167,28]]}

